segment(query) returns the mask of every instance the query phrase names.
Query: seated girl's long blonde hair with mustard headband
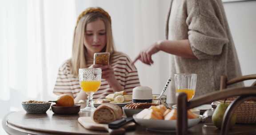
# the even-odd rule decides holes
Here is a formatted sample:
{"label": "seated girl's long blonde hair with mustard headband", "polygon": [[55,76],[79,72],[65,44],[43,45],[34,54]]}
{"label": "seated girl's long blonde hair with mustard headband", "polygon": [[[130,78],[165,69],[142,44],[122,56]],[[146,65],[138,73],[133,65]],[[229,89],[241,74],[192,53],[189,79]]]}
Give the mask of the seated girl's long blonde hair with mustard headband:
{"label": "seated girl's long blonde hair with mustard headband", "polygon": [[86,67],[86,47],[84,46],[84,36],[86,25],[93,21],[100,19],[104,22],[106,27],[107,43],[102,52],[109,52],[110,56],[116,52],[114,47],[114,41],[112,36],[111,18],[106,11],[102,8],[87,8],[80,14],[77,19],[76,28],[74,31],[72,58],[69,61],[71,64],[71,73],[74,76],[78,76],[79,68]]}

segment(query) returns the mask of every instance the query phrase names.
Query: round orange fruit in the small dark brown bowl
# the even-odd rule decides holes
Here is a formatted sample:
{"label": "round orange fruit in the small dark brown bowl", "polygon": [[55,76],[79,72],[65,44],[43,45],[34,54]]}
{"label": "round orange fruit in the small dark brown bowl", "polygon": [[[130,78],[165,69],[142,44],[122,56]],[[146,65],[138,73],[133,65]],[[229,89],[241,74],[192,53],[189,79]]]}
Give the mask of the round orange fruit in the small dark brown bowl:
{"label": "round orange fruit in the small dark brown bowl", "polygon": [[56,106],[72,107],[74,106],[74,98],[71,95],[62,94],[56,100]]}

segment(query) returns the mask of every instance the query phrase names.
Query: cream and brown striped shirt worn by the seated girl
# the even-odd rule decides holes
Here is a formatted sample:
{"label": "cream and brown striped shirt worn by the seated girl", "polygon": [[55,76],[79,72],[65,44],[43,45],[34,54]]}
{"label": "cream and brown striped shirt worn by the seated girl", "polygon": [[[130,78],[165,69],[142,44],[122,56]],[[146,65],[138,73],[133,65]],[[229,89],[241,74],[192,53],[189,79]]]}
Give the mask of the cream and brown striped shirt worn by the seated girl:
{"label": "cream and brown striped shirt worn by the seated girl", "polygon": [[[91,66],[92,62],[88,62],[87,67]],[[132,65],[130,58],[124,53],[116,53],[112,55],[111,67],[114,70],[115,77],[124,91],[128,95],[132,95],[132,89],[140,86],[140,80],[137,69]],[[65,61],[59,68],[54,93],[72,93],[76,97],[80,92],[78,77],[71,74],[69,60]],[[103,99],[106,95],[113,93],[112,87],[108,85],[105,79],[101,79],[101,85],[98,91],[93,95],[94,99]]]}

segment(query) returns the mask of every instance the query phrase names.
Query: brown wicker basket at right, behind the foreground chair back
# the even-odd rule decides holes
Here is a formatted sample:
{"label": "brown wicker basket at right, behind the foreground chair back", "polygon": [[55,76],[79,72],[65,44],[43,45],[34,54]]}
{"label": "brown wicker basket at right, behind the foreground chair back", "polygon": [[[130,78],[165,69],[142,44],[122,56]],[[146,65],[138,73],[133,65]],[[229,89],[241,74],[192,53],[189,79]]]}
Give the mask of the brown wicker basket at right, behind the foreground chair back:
{"label": "brown wicker basket at right, behind the foreground chair back", "polygon": [[[232,103],[237,97],[228,98],[226,103]],[[224,102],[224,100],[220,100]],[[235,110],[236,123],[246,123],[252,124],[256,123],[256,102],[255,101],[245,101],[241,103]]]}

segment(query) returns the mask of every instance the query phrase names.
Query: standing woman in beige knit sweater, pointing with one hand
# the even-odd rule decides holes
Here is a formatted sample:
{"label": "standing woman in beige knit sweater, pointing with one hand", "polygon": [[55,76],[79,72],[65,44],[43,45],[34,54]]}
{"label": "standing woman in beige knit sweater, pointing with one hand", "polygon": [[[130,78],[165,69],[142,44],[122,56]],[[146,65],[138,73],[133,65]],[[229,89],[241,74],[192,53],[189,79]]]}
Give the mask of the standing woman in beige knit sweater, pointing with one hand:
{"label": "standing woman in beige knit sweater, pointing with one hand", "polygon": [[[197,74],[195,96],[219,90],[221,75],[228,79],[241,75],[222,0],[171,0],[166,38],[140,52],[133,63],[151,65],[156,52],[171,54],[171,76]],[[171,84],[171,103],[175,103],[174,81]]]}

